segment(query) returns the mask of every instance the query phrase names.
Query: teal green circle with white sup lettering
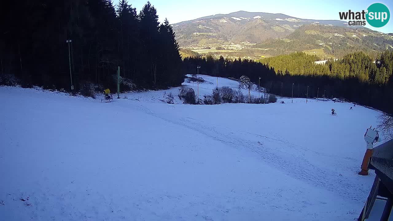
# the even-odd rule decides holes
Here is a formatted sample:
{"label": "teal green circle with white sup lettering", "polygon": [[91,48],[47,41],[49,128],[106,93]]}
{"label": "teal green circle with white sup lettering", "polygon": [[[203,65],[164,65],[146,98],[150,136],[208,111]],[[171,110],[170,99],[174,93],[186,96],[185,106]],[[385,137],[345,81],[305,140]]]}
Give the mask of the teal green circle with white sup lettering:
{"label": "teal green circle with white sup lettering", "polygon": [[367,8],[367,22],[375,27],[380,28],[387,24],[390,18],[389,9],[382,3],[374,3]]}

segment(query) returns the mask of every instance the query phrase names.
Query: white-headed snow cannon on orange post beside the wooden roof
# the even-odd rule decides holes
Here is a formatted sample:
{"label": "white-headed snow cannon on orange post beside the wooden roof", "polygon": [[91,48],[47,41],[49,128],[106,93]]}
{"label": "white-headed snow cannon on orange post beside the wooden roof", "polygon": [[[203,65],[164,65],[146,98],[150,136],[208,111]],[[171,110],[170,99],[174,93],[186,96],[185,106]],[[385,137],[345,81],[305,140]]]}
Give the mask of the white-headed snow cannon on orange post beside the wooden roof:
{"label": "white-headed snow cannon on orange post beside the wooden roof", "polygon": [[367,144],[367,149],[366,152],[364,153],[362,166],[360,166],[361,170],[358,174],[362,176],[367,176],[368,164],[371,155],[373,155],[373,145],[375,145],[377,142],[380,142],[381,138],[379,137],[378,131],[375,128],[371,129],[370,126],[370,128],[367,128],[366,133],[364,134],[364,141]]}

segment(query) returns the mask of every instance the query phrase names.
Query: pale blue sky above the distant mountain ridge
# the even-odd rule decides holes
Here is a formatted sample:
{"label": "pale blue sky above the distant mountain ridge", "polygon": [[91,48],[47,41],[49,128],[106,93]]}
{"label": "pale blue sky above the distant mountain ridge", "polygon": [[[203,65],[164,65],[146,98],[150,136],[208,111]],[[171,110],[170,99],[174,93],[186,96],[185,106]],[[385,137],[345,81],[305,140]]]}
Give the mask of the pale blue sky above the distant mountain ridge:
{"label": "pale blue sky above the distant mountain ridge", "polygon": [[[117,4],[119,0],[113,0]],[[139,10],[146,4],[147,0],[129,0],[132,7]],[[393,1],[378,0],[322,0],[322,1],[302,1],[302,0],[151,0],[151,4],[156,7],[160,22],[168,18],[171,24],[186,20],[215,15],[228,14],[235,11],[282,13],[297,18],[320,19],[320,20],[340,20],[340,11],[362,11],[373,3],[385,4],[390,13],[393,9]],[[383,33],[393,32],[393,18],[381,28],[374,28],[366,25],[367,28]]]}

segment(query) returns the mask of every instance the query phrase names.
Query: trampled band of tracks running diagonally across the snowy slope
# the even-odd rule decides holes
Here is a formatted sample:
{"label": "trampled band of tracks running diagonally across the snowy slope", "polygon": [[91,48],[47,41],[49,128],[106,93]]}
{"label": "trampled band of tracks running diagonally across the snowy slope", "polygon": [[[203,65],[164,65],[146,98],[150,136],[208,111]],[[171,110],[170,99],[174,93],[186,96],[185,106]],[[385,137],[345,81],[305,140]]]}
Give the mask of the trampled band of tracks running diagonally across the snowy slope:
{"label": "trampled band of tracks running diagonally across the snowy slope", "polygon": [[[359,200],[358,192],[369,191],[369,186],[354,184],[353,181],[342,176],[337,169],[335,169],[343,167],[343,169],[351,170],[353,173],[356,173],[357,168],[348,168],[345,166],[345,163],[342,163],[336,165],[334,168],[321,169],[307,160],[305,155],[324,158],[325,160],[329,160],[329,158],[341,158],[340,160],[345,162],[351,160],[346,157],[318,153],[299,145],[292,144],[284,138],[257,134],[257,131],[253,131],[252,133],[249,131],[241,131],[201,122],[190,117],[179,118],[176,116],[176,118],[172,117],[169,119],[162,114],[153,113],[143,105],[137,105],[138,109],[143,112],[167,122],[187,127],[238,149],[249,149],[253,153],[257,153],[264,162],[267,162],[273,168],[279,168],[284,171],[286,175],[303,180],[313,186],[339,193],[342,197],[349,198],[350,201]],[[269,131],[261,132],[265,134],[270,133]],[[252,137],[250,137],[250,134]],[[288,149],[291,149],[291,151],[286,151]]]}

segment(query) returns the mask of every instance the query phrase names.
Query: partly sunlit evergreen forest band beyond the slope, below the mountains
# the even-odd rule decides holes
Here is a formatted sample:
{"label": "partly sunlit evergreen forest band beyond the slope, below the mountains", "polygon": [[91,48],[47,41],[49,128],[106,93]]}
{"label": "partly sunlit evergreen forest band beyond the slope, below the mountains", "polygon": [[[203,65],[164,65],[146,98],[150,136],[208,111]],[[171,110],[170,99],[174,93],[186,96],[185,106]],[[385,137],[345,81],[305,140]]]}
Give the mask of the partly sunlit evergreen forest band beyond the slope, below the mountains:
{"label": "partly sunlit evergreen forest band beyond the slope, below the mountains", "polygon": [[[185,74],[195,74],[200,65],[200,74],[219,77],[250,77],[270,93],[280,96],[305,98],[343,98],[393,112],[393,52],[386,51],[374,61],[362,52],[345,55],[343,59],[314,64],[316,57],[305,53],[292,53],[264,59],[263,63],[252,60],[186,58]],[[375,62],[375,63],[374,63]]]}

